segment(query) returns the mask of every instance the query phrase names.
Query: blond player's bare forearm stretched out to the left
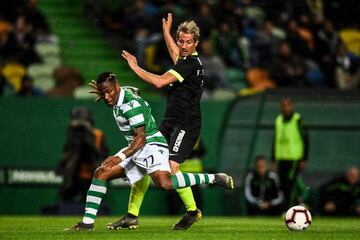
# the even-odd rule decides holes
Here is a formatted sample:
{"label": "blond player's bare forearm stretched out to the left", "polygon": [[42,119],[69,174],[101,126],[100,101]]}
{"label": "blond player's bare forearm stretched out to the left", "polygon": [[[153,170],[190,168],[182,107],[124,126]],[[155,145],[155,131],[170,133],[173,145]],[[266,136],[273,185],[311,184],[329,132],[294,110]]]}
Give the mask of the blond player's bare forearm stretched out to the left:
{"label": "blond player's bare forearm stretched out to the left", "polygon": [[138,66],[136,57],[130,54],[129,52],[123,50],[121,56],[128,62],[131,70],[134,71],[142,80],[154,85],[157,88],[162,88],[177,81],[177,78],[169,72],[164,73],[163,75],[157,75],[145,71]]}

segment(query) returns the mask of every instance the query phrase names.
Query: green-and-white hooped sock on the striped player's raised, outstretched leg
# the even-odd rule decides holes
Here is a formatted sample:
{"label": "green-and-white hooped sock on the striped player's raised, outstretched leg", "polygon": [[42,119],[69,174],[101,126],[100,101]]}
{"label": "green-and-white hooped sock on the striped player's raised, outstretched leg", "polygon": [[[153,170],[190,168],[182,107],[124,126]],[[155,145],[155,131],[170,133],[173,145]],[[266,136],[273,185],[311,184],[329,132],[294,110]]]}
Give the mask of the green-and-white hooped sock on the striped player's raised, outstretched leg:
{"label": "green-and-white hooped sock on the striped player's raised, outstretched leg", "polygon": [[200,184],[213,184],[215,180],[214,174],[208,173],[177,173],[171,175],[173,189],[185,188]]}

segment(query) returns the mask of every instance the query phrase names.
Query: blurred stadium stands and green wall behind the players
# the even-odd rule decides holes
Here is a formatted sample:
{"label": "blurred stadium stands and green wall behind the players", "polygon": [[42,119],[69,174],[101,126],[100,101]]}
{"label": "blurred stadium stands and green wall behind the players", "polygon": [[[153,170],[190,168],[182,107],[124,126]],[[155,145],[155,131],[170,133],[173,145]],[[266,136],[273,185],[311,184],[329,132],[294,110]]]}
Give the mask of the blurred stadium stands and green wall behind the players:
{"label": "blurred stadium stands and green wall behind the players", "polygon": [[[54,169],[73,107],[93,111],[110,153],[125,146],[111,109],[87,93],[87,83],[99,73],[112,71],[121,85],[140,88],[159,122],[165,90],[137,79],[120,51],[135,53],[152,72],[166,71],[166,12],[174,14],[174,26],[195,19],[201,41],[209,43],[199,47],[200,54],[218,59],[208,69],[218,74],[207,76],[202,101],[203,165],[232,174],[238,188],[203,188],[203,211],[246,213],[245,173],[256,155],[270,158],[278,103],[288,96],[309,128],[303,178],[316,213],[318,187],[359,167],[359,9],[350,0],[1,1],[0,214],[42,214],[57,203],[62,179]],[[282,74],[283,44],[290,51],[286,62],[299,67],[298,74]],[[128,194],[128,187],[112,185],[105,200],[111,214],[126,211]],[[166,201],[164,192],[151,188],[142,213],[166,214]]]}

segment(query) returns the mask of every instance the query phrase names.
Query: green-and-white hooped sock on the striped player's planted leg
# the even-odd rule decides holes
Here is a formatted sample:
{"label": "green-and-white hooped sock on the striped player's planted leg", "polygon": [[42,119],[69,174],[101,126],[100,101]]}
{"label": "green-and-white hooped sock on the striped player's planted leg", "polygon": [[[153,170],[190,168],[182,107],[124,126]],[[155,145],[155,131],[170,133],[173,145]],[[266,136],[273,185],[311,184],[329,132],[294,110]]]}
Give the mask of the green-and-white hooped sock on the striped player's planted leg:
{"label": "green-and-white hooped sock on the striped player's planted leg", "polygon": [[85,214],[83,223],[92,224],[95,222],[97,211],[99,210],[101,200],[106,193],[106,182],[94,178],[86,196]]}

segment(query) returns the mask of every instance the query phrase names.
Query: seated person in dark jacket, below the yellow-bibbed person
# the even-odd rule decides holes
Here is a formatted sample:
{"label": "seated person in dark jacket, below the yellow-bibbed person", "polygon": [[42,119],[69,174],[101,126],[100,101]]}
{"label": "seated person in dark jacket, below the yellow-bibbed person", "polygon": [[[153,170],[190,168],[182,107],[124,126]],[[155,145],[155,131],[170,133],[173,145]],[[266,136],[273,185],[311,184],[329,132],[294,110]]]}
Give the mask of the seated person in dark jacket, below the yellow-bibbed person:
{"label": "seated person in dark jacket, below the yellow-bibbed person", "polygon": [[250,215],[276,215],[282,211],[284,194],[279,177],[268,170],[263,155],[255,158],[254,168],[246,175],[245,199]]}

